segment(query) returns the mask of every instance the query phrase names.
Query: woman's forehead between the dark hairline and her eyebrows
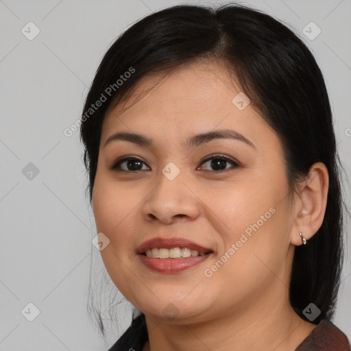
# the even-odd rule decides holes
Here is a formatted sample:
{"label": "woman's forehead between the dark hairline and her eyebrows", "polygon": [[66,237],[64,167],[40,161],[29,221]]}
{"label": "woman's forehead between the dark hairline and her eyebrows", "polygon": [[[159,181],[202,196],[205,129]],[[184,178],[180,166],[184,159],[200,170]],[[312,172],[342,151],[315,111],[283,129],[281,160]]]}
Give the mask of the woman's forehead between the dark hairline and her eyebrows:
{"label": "woman's forehead between the dark hairline and her eyebrows", "polygon": [[176,137],[177,133],[208,132],[216,126],[243,134],[256,130],[258,136],[260,129],[269,127],[250,104],[238,108],[239,93],[241,88],[232,73],[213,61],[191,62],[167,74],[147,75],[134,86],[127,101],[108,110],[101,142],[115,130],[162,131]]}

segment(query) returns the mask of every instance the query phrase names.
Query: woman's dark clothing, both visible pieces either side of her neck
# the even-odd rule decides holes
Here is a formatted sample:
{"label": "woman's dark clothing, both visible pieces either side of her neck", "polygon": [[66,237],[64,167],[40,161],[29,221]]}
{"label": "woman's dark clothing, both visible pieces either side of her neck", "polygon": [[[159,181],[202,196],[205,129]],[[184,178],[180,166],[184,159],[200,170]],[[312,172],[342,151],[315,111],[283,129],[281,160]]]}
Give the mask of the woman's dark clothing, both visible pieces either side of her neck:
{"label": "woman's dark clothing, both visible pieces either side of her neck", "polygon": [[[140,315],[108,351],[141,351],[148,339],[145,316]],[[350,350],[346,335],[328,319],[319,322],[310,335],[295,349],[295,351]]]}

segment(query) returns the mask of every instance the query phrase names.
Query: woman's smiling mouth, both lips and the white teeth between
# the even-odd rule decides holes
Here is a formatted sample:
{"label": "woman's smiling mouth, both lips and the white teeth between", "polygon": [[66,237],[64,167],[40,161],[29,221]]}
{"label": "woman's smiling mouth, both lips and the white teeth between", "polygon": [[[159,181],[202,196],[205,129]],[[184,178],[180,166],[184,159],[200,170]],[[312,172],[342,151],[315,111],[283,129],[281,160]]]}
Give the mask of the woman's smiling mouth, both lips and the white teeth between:
{"label": "woman's smiling mouth, both lips and the white teeth between", "polygon": [[174,274],[202,263],[213,250],[182,238],[152,239],[139,247],[141,263],[160,273]]}

